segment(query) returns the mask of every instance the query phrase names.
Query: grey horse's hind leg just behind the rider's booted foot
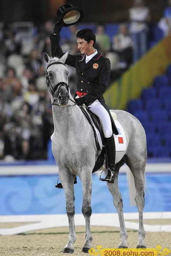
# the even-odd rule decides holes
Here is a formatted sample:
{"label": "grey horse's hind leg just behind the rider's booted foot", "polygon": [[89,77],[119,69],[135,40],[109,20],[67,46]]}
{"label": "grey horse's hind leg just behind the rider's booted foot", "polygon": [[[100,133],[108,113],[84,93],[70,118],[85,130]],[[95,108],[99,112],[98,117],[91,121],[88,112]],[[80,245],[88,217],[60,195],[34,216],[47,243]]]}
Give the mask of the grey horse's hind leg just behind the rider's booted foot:
{"label": "grey horse's hind leg just behind the rider's booted foot", "polygon": [[128,245],[127,245],[128,234],[125,228],[124,217],[123,217],[123,201],[117,185],[117,177],[118,177],[119,169],[120,167],[116,167],[115,169],[114,183],[107,182],[107,186],[113,196],[114,206],[116,207],[118,216],[119,216],[121,242],[118,247],[128,248]]}

